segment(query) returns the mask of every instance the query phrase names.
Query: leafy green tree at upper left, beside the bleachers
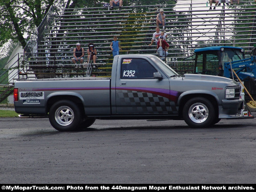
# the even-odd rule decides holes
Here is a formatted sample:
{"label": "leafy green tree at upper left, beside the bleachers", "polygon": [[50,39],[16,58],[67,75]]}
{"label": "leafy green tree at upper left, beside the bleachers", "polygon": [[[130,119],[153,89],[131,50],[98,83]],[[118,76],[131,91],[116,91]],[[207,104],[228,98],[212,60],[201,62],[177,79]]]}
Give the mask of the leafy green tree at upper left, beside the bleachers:
{"label": "leafy green tree at upper left, beside the bleachers", "polygon": [[[57,0],[66,2],[66,8],[82,5],[82,0]],[[1,0],[0,1],[0,47],[12,39],[26,46],[26,37],[36,31],[54,0]]]}

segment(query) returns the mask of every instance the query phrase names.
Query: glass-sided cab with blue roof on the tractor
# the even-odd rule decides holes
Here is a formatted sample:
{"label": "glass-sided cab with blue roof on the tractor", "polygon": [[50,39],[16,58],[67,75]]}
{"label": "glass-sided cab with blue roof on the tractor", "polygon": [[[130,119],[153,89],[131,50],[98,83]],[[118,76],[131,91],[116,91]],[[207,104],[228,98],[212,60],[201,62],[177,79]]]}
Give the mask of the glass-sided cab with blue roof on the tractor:
{"label": "glass-sided cab with blue roof on the tractor", "polygon": [[241,61],[245,59],[245,55],[242,48],[217,46],[196,49],[194,59],[194,73],[227,76],[224,72],[225,62]]}

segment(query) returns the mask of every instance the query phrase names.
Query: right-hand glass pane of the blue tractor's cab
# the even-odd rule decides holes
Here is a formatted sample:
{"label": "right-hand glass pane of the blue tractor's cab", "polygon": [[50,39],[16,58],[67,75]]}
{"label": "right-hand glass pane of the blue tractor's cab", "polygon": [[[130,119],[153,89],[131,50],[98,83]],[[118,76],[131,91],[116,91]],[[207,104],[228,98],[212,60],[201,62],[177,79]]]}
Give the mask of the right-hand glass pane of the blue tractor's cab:
{"label": "right-hand glass pane of the blue tractor's cab", "polygon": [[244,53],[240,49],[225,49],[221,51],[221,64],[224,67],[225,62],[232,62],[244,59]]}

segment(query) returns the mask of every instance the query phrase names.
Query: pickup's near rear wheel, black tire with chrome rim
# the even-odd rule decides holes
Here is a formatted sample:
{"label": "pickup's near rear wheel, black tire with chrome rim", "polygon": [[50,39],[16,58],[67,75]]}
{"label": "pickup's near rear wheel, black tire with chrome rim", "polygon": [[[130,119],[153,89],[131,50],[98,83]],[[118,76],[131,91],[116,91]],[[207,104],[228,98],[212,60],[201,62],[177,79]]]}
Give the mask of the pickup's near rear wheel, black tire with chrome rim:
{"label": "pickup's near rear wheel, black tire with chrome rim", "polygon": [[49,120],[58,131],[76,131],[81,122],[81,113],[76,103],[69,100],[60,100],[51,106]]}

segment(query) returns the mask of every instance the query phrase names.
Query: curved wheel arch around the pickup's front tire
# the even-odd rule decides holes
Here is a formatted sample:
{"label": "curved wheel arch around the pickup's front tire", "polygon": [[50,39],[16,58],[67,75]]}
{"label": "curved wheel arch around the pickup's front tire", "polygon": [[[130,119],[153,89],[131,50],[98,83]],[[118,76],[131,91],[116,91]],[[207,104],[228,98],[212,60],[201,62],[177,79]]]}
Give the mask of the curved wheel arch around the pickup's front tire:
{"label": "curved wheel arch around the pickup's front tire", "polygon": [[179,116],[182,117],[182,111],[184,108],[185,103],[194,97],[203,97],[205,99],[208,99],[212,105],[214,105],[215,111],[217,112],[217,115],[219,116],[219,105],[217,100],[215,99],[214,96],[208,95],[208,94],[190,94],[190,95],[185,95],[184,97],[182,97],[181,101],[180,101],[180,105],[179,105]]}

